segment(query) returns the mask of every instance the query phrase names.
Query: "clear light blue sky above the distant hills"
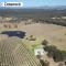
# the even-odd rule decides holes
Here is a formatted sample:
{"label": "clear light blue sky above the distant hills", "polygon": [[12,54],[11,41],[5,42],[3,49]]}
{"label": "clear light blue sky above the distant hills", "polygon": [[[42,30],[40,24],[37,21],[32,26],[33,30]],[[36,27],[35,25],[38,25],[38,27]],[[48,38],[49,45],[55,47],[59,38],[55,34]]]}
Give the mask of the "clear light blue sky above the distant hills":
{"label": "clear light blue sky above the distant hills", "polygon": [[66,6],[66,0],[0,0],[0,2],[23,2],[23,7]]}

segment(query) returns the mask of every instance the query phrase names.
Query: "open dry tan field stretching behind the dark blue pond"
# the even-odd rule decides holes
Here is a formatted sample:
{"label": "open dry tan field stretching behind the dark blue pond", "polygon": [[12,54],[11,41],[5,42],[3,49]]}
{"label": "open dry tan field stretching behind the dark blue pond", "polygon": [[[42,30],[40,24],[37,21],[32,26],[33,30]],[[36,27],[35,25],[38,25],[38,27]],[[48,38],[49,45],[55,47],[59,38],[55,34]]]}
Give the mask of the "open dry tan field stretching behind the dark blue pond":
{"label": "open dry tan field stretching behind the dark blue pond", "polygon": [[[0,28],[1,31],[24,31],[26,35],[34,35],[38,38],[38,42],[42,40],[47,40],[50,44],[56,45],[61,50],[66,51],[66,28],[55,24],[28,24],[22,25],[18,24],[18,29],[4,29]],[[38,43],[40,44],[40,43]],[[29,44],[28,44],[29,45]]]}

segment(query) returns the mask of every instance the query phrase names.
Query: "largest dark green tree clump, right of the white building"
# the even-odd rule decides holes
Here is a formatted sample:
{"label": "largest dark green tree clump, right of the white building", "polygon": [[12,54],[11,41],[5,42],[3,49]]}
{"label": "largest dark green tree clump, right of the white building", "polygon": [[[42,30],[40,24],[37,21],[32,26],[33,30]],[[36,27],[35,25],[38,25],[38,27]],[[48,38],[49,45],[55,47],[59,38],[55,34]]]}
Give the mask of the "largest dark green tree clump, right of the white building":
{"label": "largest dark green tree clump, right of the white building", "polygon": [[53,57],[55,62],[63,62],[66,59],[66,52],[57,50],[54,45],[45,46],[44,50],[48,52],[47,56]]}

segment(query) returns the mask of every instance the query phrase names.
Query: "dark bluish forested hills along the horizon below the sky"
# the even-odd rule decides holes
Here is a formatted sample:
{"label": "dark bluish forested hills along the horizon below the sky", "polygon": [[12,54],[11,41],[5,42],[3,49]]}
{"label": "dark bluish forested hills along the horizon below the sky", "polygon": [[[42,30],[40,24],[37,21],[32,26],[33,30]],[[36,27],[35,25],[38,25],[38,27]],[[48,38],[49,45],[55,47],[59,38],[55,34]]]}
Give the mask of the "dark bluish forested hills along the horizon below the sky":
{"label": "dark bluish forested hills along the horizon below the sky", "polygon": [[50,18],[66,15],[66,6],[22,9],[0,9],[1,16]]}

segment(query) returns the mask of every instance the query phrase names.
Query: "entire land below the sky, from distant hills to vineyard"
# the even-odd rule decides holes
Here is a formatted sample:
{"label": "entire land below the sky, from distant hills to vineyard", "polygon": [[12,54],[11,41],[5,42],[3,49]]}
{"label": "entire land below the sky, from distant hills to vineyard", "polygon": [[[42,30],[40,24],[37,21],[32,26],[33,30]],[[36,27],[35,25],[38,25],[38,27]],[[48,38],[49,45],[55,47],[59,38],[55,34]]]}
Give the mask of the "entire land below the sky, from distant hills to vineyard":
{"label": "entire land below the sky, from distant hills to vineyard", "polygon": [[0,8],[0,66],[66,66],[66,6]]}

